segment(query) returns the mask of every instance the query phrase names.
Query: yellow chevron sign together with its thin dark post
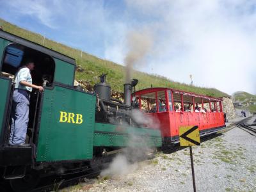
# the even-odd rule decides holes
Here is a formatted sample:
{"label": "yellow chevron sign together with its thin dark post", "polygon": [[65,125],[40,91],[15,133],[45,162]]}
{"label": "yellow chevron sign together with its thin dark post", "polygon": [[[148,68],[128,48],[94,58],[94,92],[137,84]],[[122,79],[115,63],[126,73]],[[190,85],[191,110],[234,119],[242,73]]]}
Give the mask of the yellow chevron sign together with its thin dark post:
{"label": "yellow chevron sign together with its thin dark post", "polygon": [[193,177],[193,188],[194,192],[196,191],[196,182],[195,182],[195,172],[193,164],[193,145],[200,145],[200,134],[198,126],[181,126],[179,129],[180,136],[180,146],[189,146],[190,160],[191,160],[191,169]]}

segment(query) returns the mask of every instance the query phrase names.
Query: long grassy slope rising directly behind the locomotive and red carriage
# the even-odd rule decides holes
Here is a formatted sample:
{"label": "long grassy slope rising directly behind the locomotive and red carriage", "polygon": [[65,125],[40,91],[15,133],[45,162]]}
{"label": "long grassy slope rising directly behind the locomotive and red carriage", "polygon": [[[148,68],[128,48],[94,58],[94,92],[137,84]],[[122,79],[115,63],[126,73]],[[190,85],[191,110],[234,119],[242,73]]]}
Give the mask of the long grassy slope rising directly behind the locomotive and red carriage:
{"label": "long grassy slope rising directly behind the locomotive and red carriage", "polygon": [[[0,19],[0,26],[3,26],[4,31],[8,31],[9,33],[21,36],[22,38],[26,38],[40,45],[42,45],[43,43],[42,35],[19,28],[2,19]],[[78,49],[73,49],[66,45],[49,40],[47,38],[45,38],[44,46],[76,59],[76,63],[80,69],[76,72],[77,80],[83,81],[84,84],[93,85],[99,81],[98,79],[100,74],[107,73],[107,81],[109,84],[111,84],[113,90],[115,90],[116,92],[122,92],[122,84],[124,84],[124,66],[118,65],[111,61],[102,60],[86,52],[82,52],[81,54],[81,51]],[[152,84],[152,86],[154,87],[170,87],[188,92],[196,92],[204,95],[210,95],[213,97],[229,96],[227,93],[220,92],[215,88],[189,86],[188,84],[171,81],[166,77],[150,75],[139,71],[134,72],[133,78],[139,79],[137,90],[142,88],[148,88]]]}

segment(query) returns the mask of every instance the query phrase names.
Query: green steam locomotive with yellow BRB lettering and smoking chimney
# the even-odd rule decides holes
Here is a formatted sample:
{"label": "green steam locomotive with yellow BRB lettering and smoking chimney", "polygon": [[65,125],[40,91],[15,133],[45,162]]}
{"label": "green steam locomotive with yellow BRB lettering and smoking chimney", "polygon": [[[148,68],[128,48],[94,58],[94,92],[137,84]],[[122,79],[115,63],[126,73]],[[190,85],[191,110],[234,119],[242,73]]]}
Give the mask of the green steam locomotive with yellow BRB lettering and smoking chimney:
{"label": "green steam locomotive with yellow BRB lettering and smoking chimney", "polygon": [[[26,58],[35,60],[33,84],[44,84],[44,92],[31,93],[29,147],[15,147],[8,145],[12,79]],[[74,59],[6,31],[0,31],[0,61],[0,184],[9,181],[14,191],[29,191],[39,177],[83,172],[121,148],[161,147],[161,132],[132,116],[136,79],[124,85],[124,102],[111,98],[104,75],[95,92],[84,92],[74,86]]]}

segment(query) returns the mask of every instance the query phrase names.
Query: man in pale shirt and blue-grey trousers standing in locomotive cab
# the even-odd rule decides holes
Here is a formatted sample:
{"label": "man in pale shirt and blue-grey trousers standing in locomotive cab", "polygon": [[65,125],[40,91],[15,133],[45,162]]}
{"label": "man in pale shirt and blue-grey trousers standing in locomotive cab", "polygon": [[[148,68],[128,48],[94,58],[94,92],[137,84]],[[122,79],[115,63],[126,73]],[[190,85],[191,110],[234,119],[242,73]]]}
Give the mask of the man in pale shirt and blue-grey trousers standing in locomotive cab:
{"label": "man in pale shirt and blue-grey trousers standing in locomotive cab", "polygon": [[15,75],[15,89],[12,102],[12,125],[9,144],[14,146],[26,146],[26,133],[28,128],[29,99],[32,88],[43,92],[42,86],[32,84],[30,71],[34,70],[33,60],[26,60],[24,67],[21,67]]}

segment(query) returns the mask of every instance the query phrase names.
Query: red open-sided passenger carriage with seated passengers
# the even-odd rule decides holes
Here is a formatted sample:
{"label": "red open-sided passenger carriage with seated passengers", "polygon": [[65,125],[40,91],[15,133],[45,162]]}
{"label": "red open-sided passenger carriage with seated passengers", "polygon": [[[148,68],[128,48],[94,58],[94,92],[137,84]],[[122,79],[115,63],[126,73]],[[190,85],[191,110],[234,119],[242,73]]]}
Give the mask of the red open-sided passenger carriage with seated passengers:
{"label": "red open-sided passenger carriage with seated passengers", "polygon": [[133,96],[147,116],[158,120],[164,142],[179,142],[180,126],[198,125],[200,136],[225,127],[220,98],[171,88],[147,88]]}

